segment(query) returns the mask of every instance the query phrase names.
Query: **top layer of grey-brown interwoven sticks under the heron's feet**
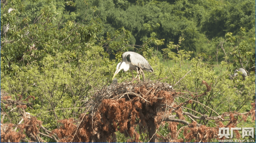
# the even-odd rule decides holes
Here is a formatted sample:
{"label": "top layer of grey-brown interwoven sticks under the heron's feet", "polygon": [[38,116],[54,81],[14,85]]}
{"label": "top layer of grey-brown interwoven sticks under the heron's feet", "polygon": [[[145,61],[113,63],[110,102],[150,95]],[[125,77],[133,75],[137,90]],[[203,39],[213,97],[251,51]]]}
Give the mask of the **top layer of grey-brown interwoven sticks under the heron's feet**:
{"label": "top layer of grey-brown interwoven sticks under the heron's feet", "polygon": [[[167,92],[172,93],[172,90],[173,88],[171,85],[159,81],[112,83],[109,86],[104,86],[94,95],[93,100],[85,103],[85,106],[87,107],[86,111],[94,112],[104,99],[119,100],[125,98],[125,101],[129,101],[135,97],[139,97],[148,103],[153,104],[158,102],[160,104],[165,104],[165,98],[168,98],[169,100],[173,98],[173,95],[171,95],[171,97],[167,97],[166,95]],[[163,97],[163,95],[165,96]],[[172,103],[173,99],[170,102]]]}

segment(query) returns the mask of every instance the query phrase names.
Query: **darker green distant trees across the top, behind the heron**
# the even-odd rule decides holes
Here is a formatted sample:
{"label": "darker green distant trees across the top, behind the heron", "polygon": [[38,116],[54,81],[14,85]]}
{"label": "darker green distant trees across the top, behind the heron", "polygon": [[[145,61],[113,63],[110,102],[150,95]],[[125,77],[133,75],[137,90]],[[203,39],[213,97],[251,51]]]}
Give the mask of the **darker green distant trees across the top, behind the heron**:
{"label": "darker green distant trees across the top, behind the heron", "polygon": [[[216,48],[212,44],[217,44],[220,40],[211,42],[212,38],[225,36],[226,32],[237,34],[240,26],[253,29],[252,23],[255,21],[255,10],[253,10],[255,2],[244,0],[238,1],[235,7],[229,1],[214,0],[175,2],[90,0],[88,3],[83,1],[77,3],[79,3],[77,11],[80,21],[89,24],[88,19],[97,19],[103,24],[103,30],[98,33],[98,37],[115,35],[114,31],[123,27],[131,31],[129,43],[141,51],[140,49],[143,50],[144,47],[140,45],[145,43],[145,39],[152,37],[150,36],[152,33],[156,34],[154,37],[157,39],[165,39],[165,43],[161,46],[151,45],[154,50],[167,48],[170,41],[178,44],[181,36],[185,40],[180,48],[193,51],[192,57],[201,52],[214,54]],[[248,8],[245,10],[246,6],[252,7],[251,10]],[[93,11],[90,11],[89,7]],[[237,9],[236,12],[234,8]],[[218,58],[222,59],[223,56],[224,54],[219,53]],[[216,58],[208,60],[216,61]]]}

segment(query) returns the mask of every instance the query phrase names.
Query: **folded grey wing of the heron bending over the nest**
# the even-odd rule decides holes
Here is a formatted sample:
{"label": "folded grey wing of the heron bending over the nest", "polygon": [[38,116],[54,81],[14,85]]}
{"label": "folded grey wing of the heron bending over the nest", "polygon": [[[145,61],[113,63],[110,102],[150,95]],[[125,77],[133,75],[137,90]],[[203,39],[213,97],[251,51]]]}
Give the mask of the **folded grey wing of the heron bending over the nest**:
{"label": "folded grey wing of the heron bending over the nest", "polygon": [[149,62],[142,55],[140,55],[138,53],[130,53],[130,54],[127,54],[126,57],[127,57],[127,60],[130,57],[130,61],[134,66],[139,67],[139,65],[138,65],[138,63],[139,63],[142,70],[145,70],[148,72],[153,72],[153,68],[151,67]]}

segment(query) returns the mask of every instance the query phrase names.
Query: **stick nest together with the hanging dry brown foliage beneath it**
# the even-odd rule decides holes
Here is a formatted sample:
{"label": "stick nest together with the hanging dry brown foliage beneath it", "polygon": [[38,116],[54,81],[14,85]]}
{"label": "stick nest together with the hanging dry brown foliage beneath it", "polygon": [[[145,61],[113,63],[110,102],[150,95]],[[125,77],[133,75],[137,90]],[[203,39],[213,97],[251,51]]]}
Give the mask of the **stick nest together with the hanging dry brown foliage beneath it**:
{"label": "stick nest together with the hanging dry brown foliage beneath it", "polygon": [[[149,139],[155,138],[164,116],[173,110],[170,107],[176,107],[176,94],[172,86],[159,81],[112,83],[86,102],[87,110],[81,115],[78,126],[71,125],[73,121],[63,120],[64,126],[54,133],[62,138],[61,142],[116,142],[116,131],[130,137],[132,142],[139,142],[141,132],[145,131]],[[67,132],[67,128],[73,132]]]}

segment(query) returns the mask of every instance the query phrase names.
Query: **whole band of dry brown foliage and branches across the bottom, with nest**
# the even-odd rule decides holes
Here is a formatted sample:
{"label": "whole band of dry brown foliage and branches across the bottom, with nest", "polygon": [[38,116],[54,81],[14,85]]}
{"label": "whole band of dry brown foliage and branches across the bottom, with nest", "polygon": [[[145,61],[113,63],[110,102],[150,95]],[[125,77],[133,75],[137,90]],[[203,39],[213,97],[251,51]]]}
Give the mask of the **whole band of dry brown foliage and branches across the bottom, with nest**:
{"label": "whole band of dry brown foliage and branches across the bottom, with nest", "polygon": [[[242,120],[246,121],[251,115],[255,120],[255,102],[251,104],[252,109],[247,113],[227,112],[216,117],[198,117],[183,112],[184,104],[192,104],[192,99],[211,90],[205,81],[202,84],[206,86],[206,91],[201,95],[191,95],[192,98],[184,103],[175,103],[175,99],[183,93],[173,91],[166,83],[147,81],[137,84],[112,84],[102,88],[84,104],[86,110],[78,120],[60,120],[58,122],[62,126],[52,131],[44,128],[36,117],[25,112],[31,104],[24,102],[34,97],[21,100],[19,96],[14,101],[11,100],[11,96],[4,94],[1,96],[1,103],[5,104],[5,107],[16,105],[22,116],[17,125],[1,124],[1,142],[45,142],[41,139],[43,136],[56,142],[117,142],[116,131],[128,137],[127,142],[144,142],[145,140],[140,140],[141,136],[149,142],[209,142],[211,139],[219,139],[219,127],[236,127],[241,121],[238,120],[238,116],[242,116]],[[195,120],[212,120],[218,125],[207,127]],[[224,125],[224,121],[229,122]],[[163,136],[158,130],[166,123],[169,133]],[[181,131],[184,138],[177,137]],[[236,137],[241,136],[237,130],[234,132]],[[225,136],[221,139],[225,139]]]}

